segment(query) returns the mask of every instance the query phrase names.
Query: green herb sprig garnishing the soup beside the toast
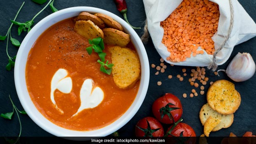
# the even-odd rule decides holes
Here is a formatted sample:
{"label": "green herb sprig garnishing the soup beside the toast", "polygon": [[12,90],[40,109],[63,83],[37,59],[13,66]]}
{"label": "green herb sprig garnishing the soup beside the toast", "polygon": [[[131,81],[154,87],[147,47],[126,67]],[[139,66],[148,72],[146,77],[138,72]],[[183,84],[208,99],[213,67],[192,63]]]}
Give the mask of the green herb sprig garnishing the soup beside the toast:
{"label": "green herb sprig garnishing the soup beside the toast", "polygon": [[[109,61],[107,60],[106,63],[105,62],[105,57],[106,57],[106,53],[103,52],[104,49],[104,42],[103,39],[101,37],[97,37],[95,39],[89,39],[89,44],[91,46],[86,48],[86,51],[88,52],[88,54],[92,54],[92,51],[94,50],[96,53],[98,53],[100,60],[97,60],[98,63],[100,63],[100,71],[104,72],[105,74],[111,74],[112,71],[112,67],[114,66],[114,64],[109,63]],[[107,67],[107,69],[106,69]]]}

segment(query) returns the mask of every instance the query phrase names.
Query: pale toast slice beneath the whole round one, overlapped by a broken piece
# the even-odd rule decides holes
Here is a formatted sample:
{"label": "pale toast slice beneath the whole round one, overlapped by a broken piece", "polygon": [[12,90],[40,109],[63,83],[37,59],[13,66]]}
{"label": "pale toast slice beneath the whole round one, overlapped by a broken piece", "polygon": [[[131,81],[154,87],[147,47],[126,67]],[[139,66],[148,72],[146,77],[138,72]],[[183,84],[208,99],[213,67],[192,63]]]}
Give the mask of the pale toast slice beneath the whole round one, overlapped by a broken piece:
{"label": "pale toast slice beneath the whole round one, overlapped by a broken piece", "polygon": [[213,110],[208,104],[203,105],[203,107],[199,112],[199,118],[202,125],[204,125],[204,123],[207,121],[207,119],[210,116],[213,118],[220,119],[220,123],[215,128],[213,128],[212,130],[213,132],[220,130],[222,128],[230,127],[230,125],[232,125],[234,121],[234,114],[228,114],[228,115],[220,114],[217,111]]}

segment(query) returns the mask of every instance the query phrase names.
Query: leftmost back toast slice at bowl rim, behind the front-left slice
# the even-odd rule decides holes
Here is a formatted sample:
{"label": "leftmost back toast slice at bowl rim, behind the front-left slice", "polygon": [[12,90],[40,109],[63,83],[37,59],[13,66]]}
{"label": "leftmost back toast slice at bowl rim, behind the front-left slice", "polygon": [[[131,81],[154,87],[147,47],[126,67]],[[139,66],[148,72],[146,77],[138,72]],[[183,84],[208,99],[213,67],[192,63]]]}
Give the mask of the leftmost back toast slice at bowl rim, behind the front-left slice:
{"label": "leftmost back toast slice at bowl rim, behind the front-left slice", "polygon": [[102,19],[100,19],[99,17],[90,14],[88,12],[81,12],[77,17],[76,17],[76,21],[92,21],[95,25],[97,25],[100,29],[105,28],[105,23],[104,21],[102,21]]}

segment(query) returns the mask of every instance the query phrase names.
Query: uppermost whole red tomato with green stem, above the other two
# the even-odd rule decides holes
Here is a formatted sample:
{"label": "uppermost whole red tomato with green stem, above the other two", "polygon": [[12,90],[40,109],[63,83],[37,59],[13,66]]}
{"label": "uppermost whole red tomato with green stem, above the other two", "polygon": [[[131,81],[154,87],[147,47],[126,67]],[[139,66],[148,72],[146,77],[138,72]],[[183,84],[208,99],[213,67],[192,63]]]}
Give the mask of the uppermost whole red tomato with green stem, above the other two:
{"label": "uppermost whole red tomato with green stem, above the other two", "polygon": [[[161,109],[162,107],[164,108]],[[173,107],[178,107],[180,109],[172,110]],[[161,112],[160,112],[160,109],[161,109]],[[181,118],[181,115],[183,113],[182,105],[179,98],[171,93],[166,93],[164,96],[156,99],[152,105],[152,112],[156,117],[156,119],[161,123],[165,123],[165,124],[173,123],[173,120],[170,119],[167,115],[167,113],[169,113],[170,111],[175,122]],[[161,117],[161,114],[164,115],[163,118]]]}

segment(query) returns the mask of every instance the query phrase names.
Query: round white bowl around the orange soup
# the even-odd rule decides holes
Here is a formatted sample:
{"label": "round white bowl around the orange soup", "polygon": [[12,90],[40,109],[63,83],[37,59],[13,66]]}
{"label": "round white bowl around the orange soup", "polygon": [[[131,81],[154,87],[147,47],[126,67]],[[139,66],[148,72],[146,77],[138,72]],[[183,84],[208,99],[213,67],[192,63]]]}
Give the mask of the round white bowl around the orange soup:
{"label": "round white bowl around the orange soup", "polygon": [[[126,33],[130,34],[130,39],[133,42],[137,53],[140,57],[141,63],[141,79],[140,79],[140,88],[138,90],[137,96],[126,111],[120,118],[118,118],[113,123],[91,131],[75,131],[69,130],[55,125],[45,118],[35,107],[33,104],[30,95],[28,94],[28,90],[26,87],[26,79],[25,79],[25,68],[26,62],[28,58],[28,52],[33,46],[34,42],[38,37],[50,26],[53,24],[62,21],[67,18],[71,18],[73,16],[77,16],[80,12],[90,12],[90,13],[102,13],[108,16],[111,16],[114,20],[119,22]],[[104,137],[110,135],[111,133],[119,130],[123,125],[128,123],[130,119],[136,114],[147,93],[147,88],[149,85],[149,61],[147,58],[147,53],[145,51],[145,47],[143,46],[140,37],[137,33],[131,28],[123,19],[111,12],[108,12],[103,9],[98,9],[95,7],[71,7],[67,9],[59,10],[53,14],[42,19],[38,22],[31,31],[26,35],[21,46],[19,47],[19,51],[17,53],[17,58],[15,60],[15,68],[14,68],[14,80],[15,86],[17,90],[17,94],[19,96],[19,100],[24,110],[27,112],[28,116],[41,128],[51,133],[52,135],[58,137],[65,137],[67,139],[76,139],[76,140],[86,140],[90,139],[90,137]]]}

